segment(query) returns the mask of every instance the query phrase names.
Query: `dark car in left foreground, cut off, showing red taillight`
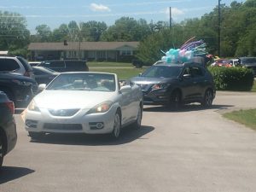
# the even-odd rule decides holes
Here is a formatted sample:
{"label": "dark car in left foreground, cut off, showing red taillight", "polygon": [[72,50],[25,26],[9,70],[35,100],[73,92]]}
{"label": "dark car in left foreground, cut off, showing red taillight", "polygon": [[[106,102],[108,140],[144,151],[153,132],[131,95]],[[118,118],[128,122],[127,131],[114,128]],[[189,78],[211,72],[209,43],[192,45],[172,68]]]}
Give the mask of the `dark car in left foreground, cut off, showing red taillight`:
{"label": "dark car in left foreground, cut off, showing red taillight", "polygon": [[0,167],[4,155],[8,154],[17,142],[15,124],[15,104],[10,101],[5,93],[0,91]]}

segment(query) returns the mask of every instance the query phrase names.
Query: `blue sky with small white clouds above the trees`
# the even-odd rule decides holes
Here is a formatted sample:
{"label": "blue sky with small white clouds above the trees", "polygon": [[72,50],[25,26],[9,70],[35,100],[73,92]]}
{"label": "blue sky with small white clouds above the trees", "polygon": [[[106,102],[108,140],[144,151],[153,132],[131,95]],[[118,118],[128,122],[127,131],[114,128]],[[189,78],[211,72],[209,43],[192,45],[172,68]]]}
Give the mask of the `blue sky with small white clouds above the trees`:
{"label": "blue sky with small white clouds above the trees", "polygon": [[[245,0],[236,0],[245,2]],[[221,0],[230,6],[233,0]],[[0,10],[19,13],[26,17],[27,28],[34,33],[35,27],[48,25],[51,30],[69,21],[104,21],[108,26],[122,16],[180,22],[188,18],[201,17],[218,5],[218,0],[0,0]]]}

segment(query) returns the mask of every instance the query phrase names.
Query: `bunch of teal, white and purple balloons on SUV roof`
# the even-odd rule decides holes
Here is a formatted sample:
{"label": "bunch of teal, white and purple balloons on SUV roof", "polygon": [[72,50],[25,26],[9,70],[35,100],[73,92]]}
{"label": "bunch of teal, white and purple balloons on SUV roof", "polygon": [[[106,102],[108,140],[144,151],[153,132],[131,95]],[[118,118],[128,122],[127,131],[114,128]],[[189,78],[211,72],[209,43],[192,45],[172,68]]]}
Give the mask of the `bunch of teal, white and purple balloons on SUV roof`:
{"label": "bunch of teal, white and purple balloons on SUV roof", "polygon": [[169,49],[166,52],[161,50],[165,54],[161,60],[167,63],[183,63],[191,61],[195,56],[206,56],[206,44],[202,40],[191,42],[192,39],[185,42],[180,49]]}

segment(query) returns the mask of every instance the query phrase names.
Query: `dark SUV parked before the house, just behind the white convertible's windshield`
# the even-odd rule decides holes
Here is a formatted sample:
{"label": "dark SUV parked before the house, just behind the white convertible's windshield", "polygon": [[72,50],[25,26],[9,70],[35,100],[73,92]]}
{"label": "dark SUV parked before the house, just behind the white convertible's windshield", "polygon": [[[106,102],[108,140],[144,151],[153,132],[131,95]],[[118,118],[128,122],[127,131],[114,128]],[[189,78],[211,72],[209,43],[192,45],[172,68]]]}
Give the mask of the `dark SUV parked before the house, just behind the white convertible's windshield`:
{"label": "dark SUV parked before the house, just behind the white convertible's windshield", "polygon": [[56,72],[88,72],[86,61],[79,60],[52,60],[42,61],[39,67],[47,67]]}

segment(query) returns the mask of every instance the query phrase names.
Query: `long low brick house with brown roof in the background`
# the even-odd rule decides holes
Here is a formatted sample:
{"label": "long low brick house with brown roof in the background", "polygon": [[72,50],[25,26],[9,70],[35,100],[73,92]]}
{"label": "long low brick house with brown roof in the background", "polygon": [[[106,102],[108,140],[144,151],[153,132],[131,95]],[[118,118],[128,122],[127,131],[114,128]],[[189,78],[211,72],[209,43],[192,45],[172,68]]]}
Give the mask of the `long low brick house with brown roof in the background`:
{"label": "long low brick house with brown roof in the background", "polygon": [[31,61],[82,59],[87,61],[132,61],[139,42],[31,43]]}

